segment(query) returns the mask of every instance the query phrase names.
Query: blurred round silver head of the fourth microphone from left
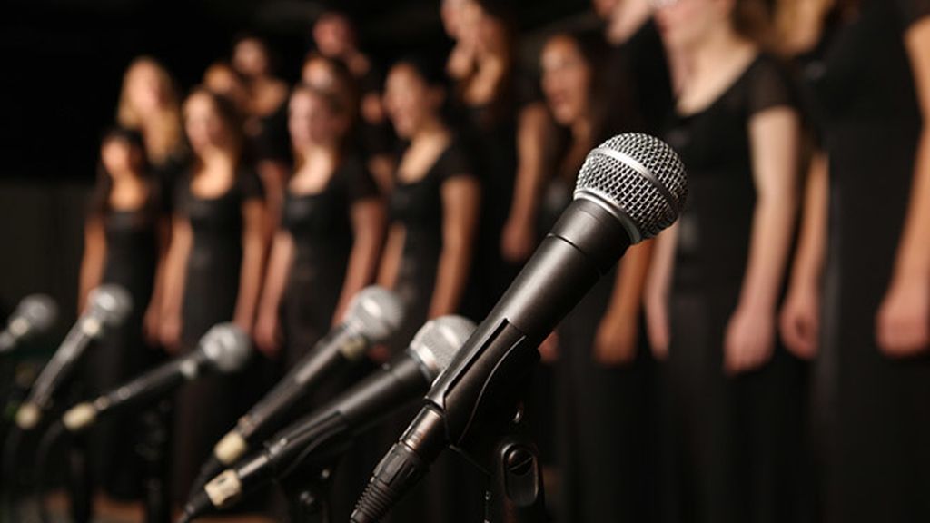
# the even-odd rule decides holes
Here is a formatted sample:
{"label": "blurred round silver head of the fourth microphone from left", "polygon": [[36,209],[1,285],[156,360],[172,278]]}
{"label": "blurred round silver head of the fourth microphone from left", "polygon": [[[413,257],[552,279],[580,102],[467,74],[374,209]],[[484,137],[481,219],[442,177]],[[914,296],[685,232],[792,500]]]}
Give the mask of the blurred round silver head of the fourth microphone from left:
{"label": "blurred round silver head of the fourth microphone from left", "polygon": [[383,343],[400,329],[404,303],[387,288],[363,288],[352,298],[342,322],[349,324],[368,342]]}

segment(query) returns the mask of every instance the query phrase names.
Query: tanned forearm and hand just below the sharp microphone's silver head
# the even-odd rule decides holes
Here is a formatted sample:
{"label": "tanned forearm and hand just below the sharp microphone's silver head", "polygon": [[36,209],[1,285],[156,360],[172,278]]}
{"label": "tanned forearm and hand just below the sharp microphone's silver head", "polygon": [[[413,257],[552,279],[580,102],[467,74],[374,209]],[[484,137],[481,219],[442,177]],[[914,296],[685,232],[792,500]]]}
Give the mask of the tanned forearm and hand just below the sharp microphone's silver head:
{"label": "tanned forearm and hand just below the sharp microphone's silver head", "polygon": [[627,250],[617,272],[614,293],[594,338],[594,358],[602,365],[623,365],[636,357],[640,307],[652,241]]}

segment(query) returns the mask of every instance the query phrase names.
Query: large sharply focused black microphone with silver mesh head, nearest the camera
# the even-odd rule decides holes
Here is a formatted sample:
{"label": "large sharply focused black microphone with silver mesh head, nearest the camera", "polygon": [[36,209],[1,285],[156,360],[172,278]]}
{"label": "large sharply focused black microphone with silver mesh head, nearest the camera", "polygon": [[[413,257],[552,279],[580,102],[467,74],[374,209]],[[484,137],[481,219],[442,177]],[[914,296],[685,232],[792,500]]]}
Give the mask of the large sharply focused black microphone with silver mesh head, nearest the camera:
{"label": "large sharply focused black microphone with silver mesh head, nearest the camera", "polygon": [[685,183],[678,155],[650,136],[623,134],[588,154],[575,200],[381,460],[354,523],[380,521],[448,446],[491,473],[494,439],[513,419],[539,343],[631,244],[678,218]]}

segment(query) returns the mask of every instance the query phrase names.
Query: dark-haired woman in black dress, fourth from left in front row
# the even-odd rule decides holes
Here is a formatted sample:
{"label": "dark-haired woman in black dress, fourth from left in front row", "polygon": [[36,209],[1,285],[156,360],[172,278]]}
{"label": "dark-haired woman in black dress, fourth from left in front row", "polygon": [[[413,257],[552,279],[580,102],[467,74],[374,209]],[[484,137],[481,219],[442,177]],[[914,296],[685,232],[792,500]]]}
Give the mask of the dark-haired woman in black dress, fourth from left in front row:
{"label": "dark-haired woman in black dress, fourth from left in front row", "polygon": [[[458,138],[445,126],[445,78],[416,60],[388,74],[385,106],[397,135],[408,142],[391,195],[391,224],[379,284],[405,303],[402,350],[423,324],[456,314],[465,300],[477,231],[480,186]],[[400,436],[412,413],[397,419]],[[393,513],[392,521],[477,521],[482,479],[454,453],[446,453],[424,485]]]}

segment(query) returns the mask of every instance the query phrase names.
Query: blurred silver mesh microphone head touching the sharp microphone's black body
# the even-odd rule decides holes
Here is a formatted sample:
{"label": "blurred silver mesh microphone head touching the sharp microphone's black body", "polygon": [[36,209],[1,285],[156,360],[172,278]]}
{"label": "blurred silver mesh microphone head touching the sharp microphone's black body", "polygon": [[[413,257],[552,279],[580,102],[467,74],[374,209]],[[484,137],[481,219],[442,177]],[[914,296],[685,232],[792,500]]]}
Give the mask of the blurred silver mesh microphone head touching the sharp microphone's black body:
{"label": "blurred silver mesh microphone head touching the sharp microphone's black body", "polygon": [[407,353],[419,360],[420,369],[433,382],[452,363],[458,349],[472,336],[474,329],[474,322],[466,317],[438,317],[417,331]]}

